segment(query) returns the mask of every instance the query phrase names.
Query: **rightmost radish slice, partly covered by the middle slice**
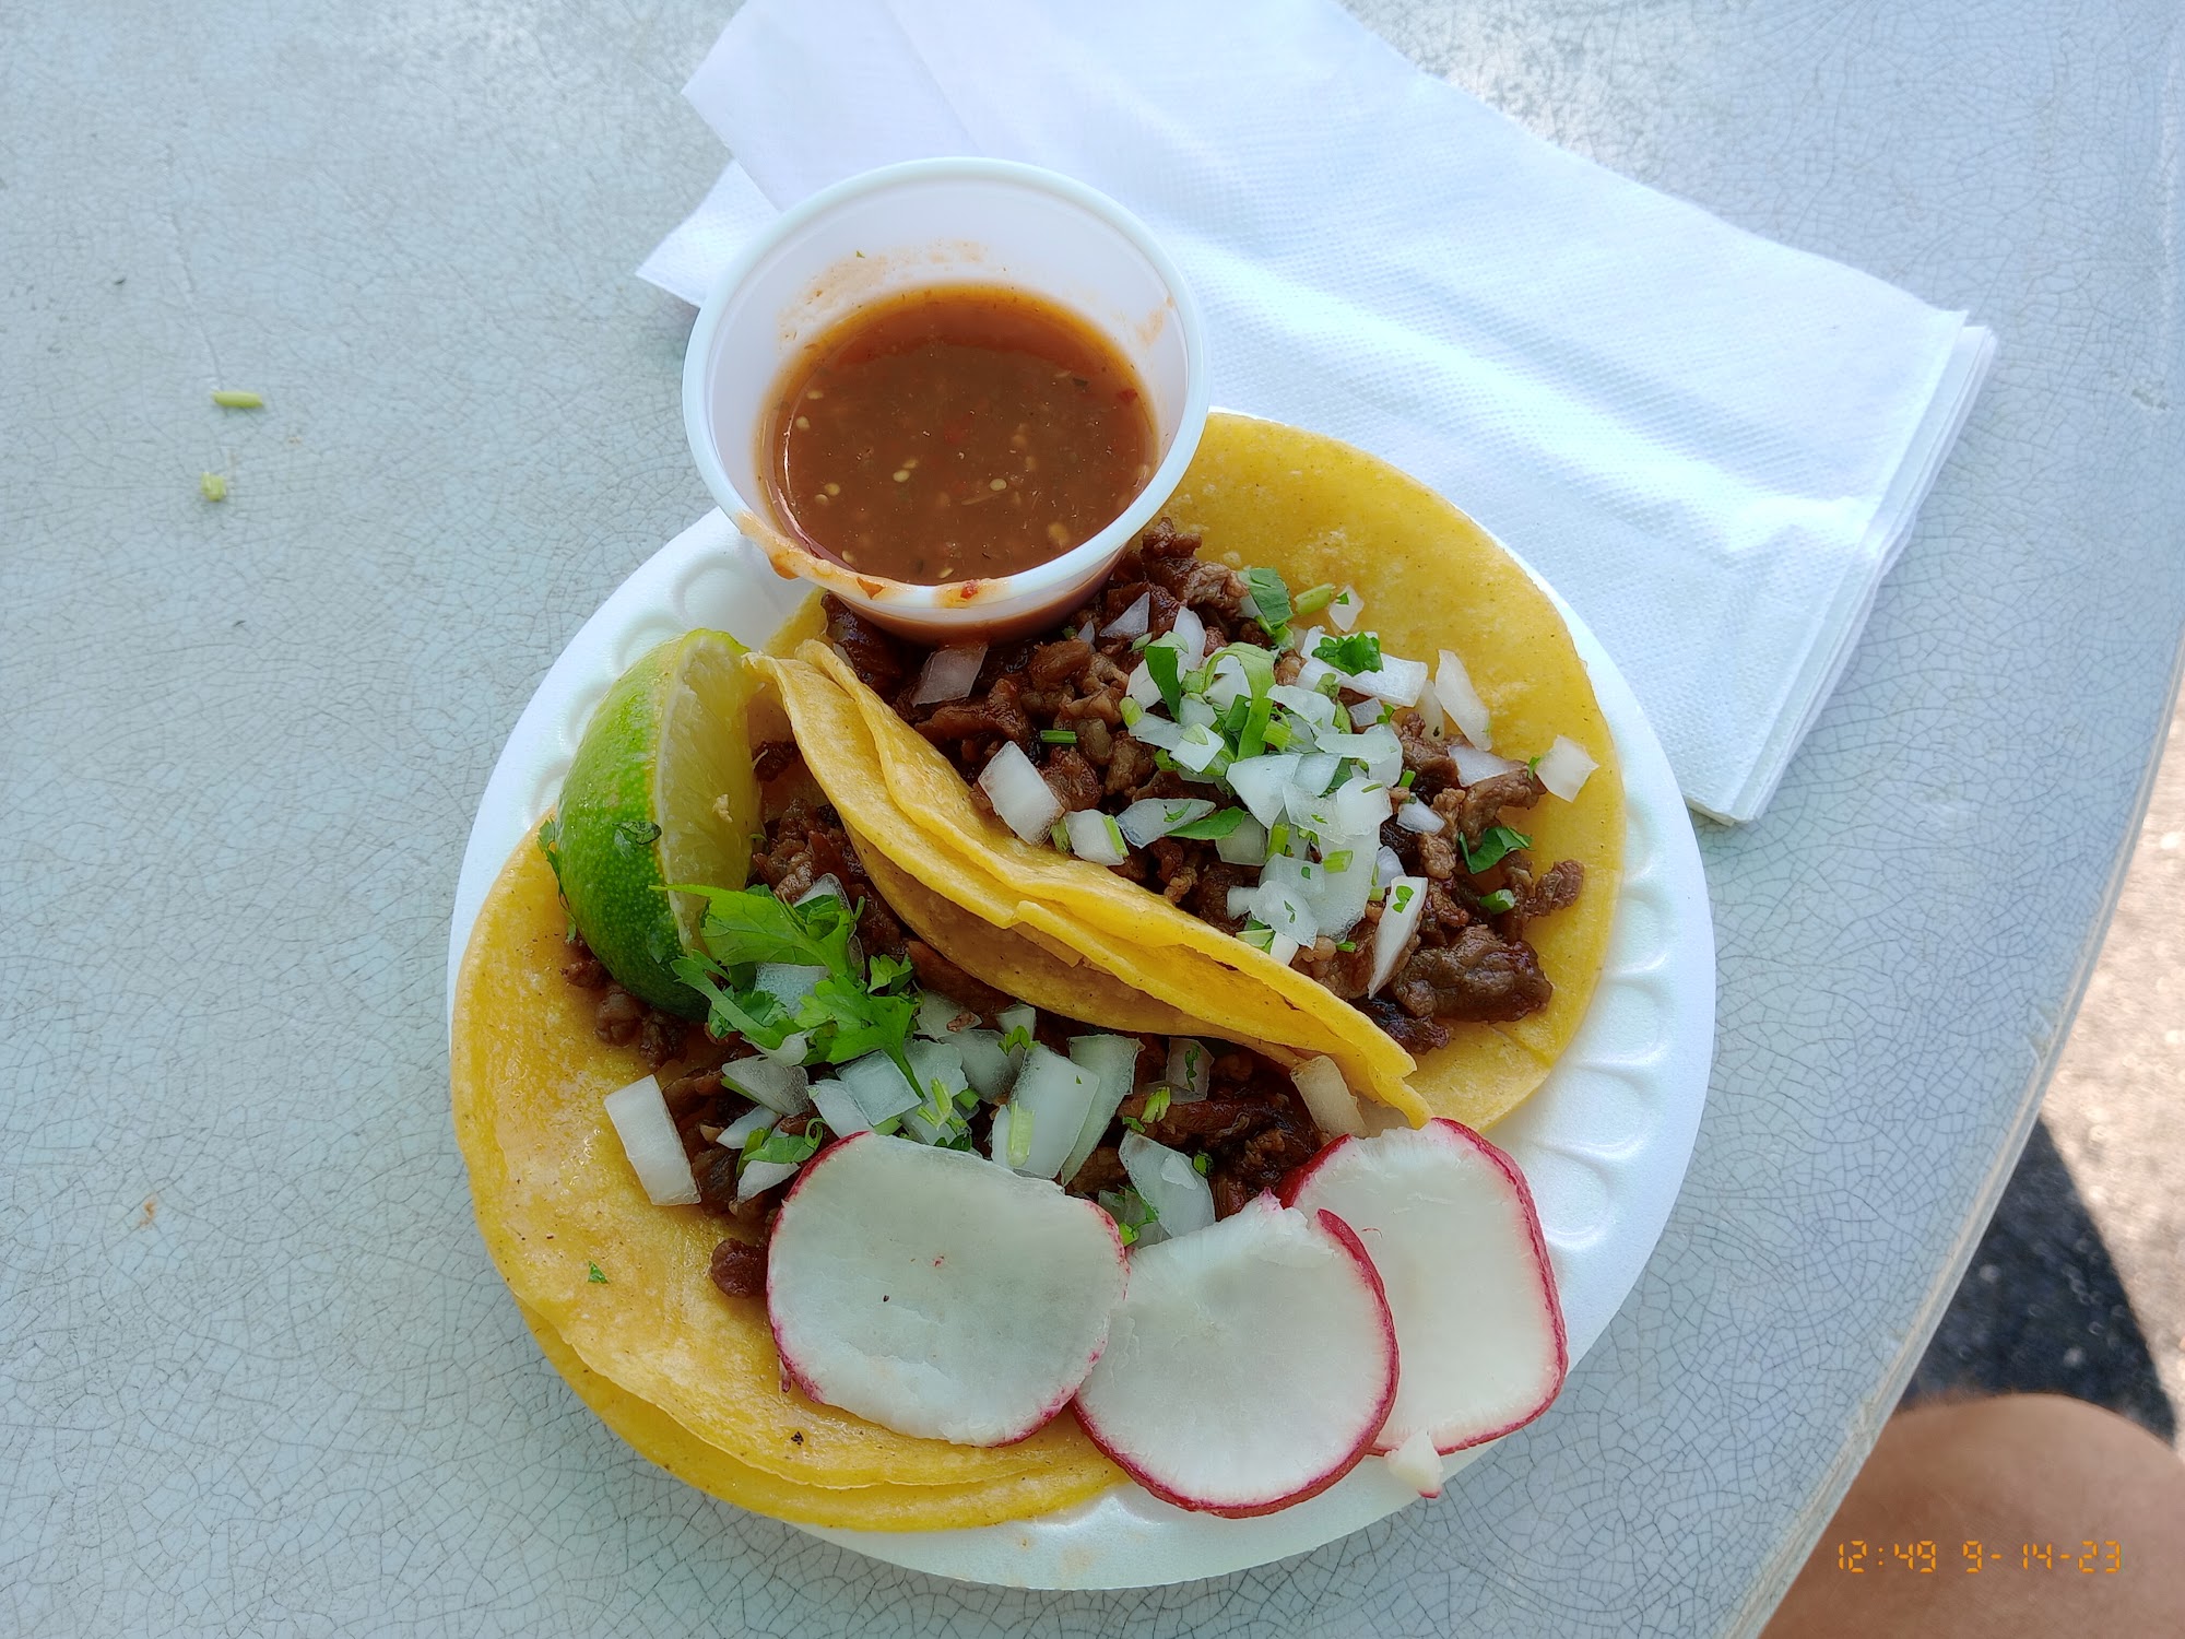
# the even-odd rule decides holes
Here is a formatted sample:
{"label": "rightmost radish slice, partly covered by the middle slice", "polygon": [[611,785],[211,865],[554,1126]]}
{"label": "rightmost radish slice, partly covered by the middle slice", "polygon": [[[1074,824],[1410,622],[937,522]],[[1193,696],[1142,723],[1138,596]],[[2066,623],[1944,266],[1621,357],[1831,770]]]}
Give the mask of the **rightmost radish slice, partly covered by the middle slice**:
{"label": "rightmost radish slice, partly covered by the middle slice", "polygon": [[1342,1139],[1283,1193],[1350,1224],[1387,1285],[1403,1383],[1374,1449],[1398,1451],[1425,1431],[1436,1451],[1462,1451],[1556,1399],[1569,1370],[1562,1307],[1510,1156],[1438,1119]]}

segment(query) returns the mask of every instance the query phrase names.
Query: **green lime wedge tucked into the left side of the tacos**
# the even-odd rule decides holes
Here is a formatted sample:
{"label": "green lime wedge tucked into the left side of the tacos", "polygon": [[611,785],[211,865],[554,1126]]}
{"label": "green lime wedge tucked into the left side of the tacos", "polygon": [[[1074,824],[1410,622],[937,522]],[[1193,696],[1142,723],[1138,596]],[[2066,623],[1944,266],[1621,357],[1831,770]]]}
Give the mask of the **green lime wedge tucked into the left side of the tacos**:
{"label": "green lime wedge tucked into the left side of the tacos", "polygon": [[634,997],[684,1018],[675,977],[704,900],[669,883],[743,887],[760,830],[745,708],[754,680],[725,632],[686,632],[621,675],[586,723],[551,852],[586,944]]}

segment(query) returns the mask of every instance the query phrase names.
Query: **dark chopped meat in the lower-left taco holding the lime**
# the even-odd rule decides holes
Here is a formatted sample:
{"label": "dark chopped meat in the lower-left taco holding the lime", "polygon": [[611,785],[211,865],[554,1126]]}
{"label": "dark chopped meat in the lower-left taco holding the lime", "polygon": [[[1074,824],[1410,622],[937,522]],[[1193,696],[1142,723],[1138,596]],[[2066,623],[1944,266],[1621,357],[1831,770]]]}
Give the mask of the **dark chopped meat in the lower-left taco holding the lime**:
{"label": "dark chopped meat in the lower-left taco holding the lime", "polygon": [[[1090,1027],[1066,1018],[1034,1014],[1031,1007],[981,983],[909,933],[874,892],[872,879],[832,809],[802,800],[789,802],[767,824],[760,846],[754,848],[752,874],[765,883],[769,898],[778,905],[795,905],[815,889],[826,894],[832,879],[832,885],[854,907],[854,946],[861,946],[863,959],[878,957],[916,975],[918,990],[905,994],[944,999],[946,1005],[931,1010],[931,1031],[924,1023],[924,1007],[920,1007],[920,1036],[933,1040],[957,1036],[966,1051],[972,1047],[972,1038],[983,1038],[1005,1053],[1012,1027],[1025,1025],[1029,1018],[1025,1040],[1014,1049],[1016,1058],[1023,1060],[1029,1047],[1038,1045],[1066,1064],[1073,1042],[1082,1042],[1090,1031]],[[730,1298],[763,1298],[767,1241],[793,1174],[754,1189],[752,1163],[767,1156],[769,1145],[780,1145],[782,1154],[804,1145],[817,1152],[832,1136],[824,1115],[813,1108],[778,1115],[747,1097],[736,1082],[756,1084],[754,1075],[773,1062],[767,1047],[736,1029],[719,1029],[719,1014],[708,1021],[706,1029],[686,1029],[684,1021],[645,1007],[607,979],[605,968],[575,935],[570,935],[570,957],[564,962],[562,975],[579,990],[605,990],[597,1010],[601,1040],[616,1045],[638,1040],[656,1071],[666,1066],[660,1090],[690,1163],[699,1206],[736,1226],[736,1233],[714,1246],[708,1274]],[[1117,1036],[1117,1031],[1101,1034]],[[1125,1053],[1130,1090],[1117,1088],[1121,1097],[1106,1128],[1097,1141],[1090,1141],[1084,1163],[1060,1182],[1073,1195],[1099,1200],[1117,1213],[1119,1222],[1125,1224],[1125,1235],[1160,1233],[1158,1219],[1134,1191],[1123,1165],[1121,1145],[1127,1134],[1184,1154],[1193,1169],[1206,1178],[1215,1217],[1228,1217],[1252,1195],[1276,1187],[1326,1143],[1289,1073],[1278,1064],[1245,1049],[1208,1049],[1189,1042],[1191,1053],[1206,1060],[1200,1071],[1204,1086],[1197,1082],[1169,1086],[1162,1077],[1178,1049],[1167,1038],[1119,1038],[1136,1040],[1136,1051]],[[909,1045],[913,1058],[922,1045]],[[1186,1062],[1197,1064],[1197,1060]],[[826,1064],[815,1062],[811,1066],[813,1082],[822,1080],[824,1071]],[[1012,1069],[1009,1075],[1014,1077],[1016,1071]],[[1018,1086],[1023,1084],[1018,1082]],[[944,1141],[990,1152],[994,1128],[1007,1112],[1009,1099],[1007,1088],[1001,1088],[999,1099],[957,1090],[950,1115],[959,1130]],[[804,1101],[811,1104],[811,1097],[806,1095]],[[872,1125],[894,1132],[902,1121],[907,1115]],[[905,1134],[926,1136],[911,1128],[905,1128]]]}

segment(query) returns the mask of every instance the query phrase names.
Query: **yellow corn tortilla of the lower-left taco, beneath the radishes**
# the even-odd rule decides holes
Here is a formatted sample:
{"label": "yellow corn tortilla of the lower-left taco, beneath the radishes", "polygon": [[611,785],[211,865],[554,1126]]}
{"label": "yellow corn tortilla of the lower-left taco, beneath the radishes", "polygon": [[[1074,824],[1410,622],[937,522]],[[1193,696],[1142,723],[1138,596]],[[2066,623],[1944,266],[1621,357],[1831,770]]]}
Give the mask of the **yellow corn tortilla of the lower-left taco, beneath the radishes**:
{"label": "yellow corn tortilla of the lower-left taco, beneath the radishes", "polygon": [[[572,1359],[721,1453],[732,1466],[710,1473],[723,1488],[741,1471],[791,1488],[889,1488],[826,1501],[830,1519],[977,1525],[1121,1479],[1071,1416],[1018,1445],[975,1449],[894,1434],[784,1386],[765,1302],[725,1298],[708,1278],[721,1219],[653,1206],[623,1156],[601,1099],[645,1064],[592,1036],[592,997],[559,972],[562,933],[553,870],[524,839],[479,911],[457,979],[452,1095],[479,1233]],[[688,1449],[677,1451],[688,1469]],[[754,1506],[791,1497],[769,1482],[752,1482]]]}

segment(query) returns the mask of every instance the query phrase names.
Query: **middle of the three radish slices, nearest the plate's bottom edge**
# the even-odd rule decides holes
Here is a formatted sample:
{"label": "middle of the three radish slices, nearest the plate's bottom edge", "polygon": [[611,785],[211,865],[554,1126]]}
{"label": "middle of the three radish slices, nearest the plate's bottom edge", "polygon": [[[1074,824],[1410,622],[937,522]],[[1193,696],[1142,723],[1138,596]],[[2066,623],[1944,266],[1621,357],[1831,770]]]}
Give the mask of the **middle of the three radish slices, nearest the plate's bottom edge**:
{"label": "middle of the three radish slices, nearest the plate's bottom edge", "polygon": [[1245,1517],[1350,1473],[1394,1390],[1396,1333],[1357,1237],[1259,1195],[1132,1257],[1077,1420],[1162,1501]]}

